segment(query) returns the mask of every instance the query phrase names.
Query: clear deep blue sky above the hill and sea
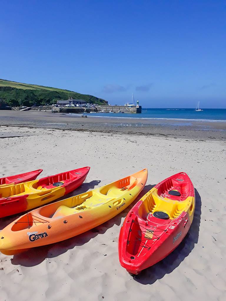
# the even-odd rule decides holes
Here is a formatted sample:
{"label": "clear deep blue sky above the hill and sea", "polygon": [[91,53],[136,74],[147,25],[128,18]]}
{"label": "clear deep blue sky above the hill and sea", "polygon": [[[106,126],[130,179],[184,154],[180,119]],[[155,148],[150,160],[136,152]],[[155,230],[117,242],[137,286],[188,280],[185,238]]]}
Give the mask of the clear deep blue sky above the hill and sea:
{"label": "clear deep blue sky above the hill and sea", "polygon": [[226,108],[225,1],[2,0],[1,12],[2,79]]}

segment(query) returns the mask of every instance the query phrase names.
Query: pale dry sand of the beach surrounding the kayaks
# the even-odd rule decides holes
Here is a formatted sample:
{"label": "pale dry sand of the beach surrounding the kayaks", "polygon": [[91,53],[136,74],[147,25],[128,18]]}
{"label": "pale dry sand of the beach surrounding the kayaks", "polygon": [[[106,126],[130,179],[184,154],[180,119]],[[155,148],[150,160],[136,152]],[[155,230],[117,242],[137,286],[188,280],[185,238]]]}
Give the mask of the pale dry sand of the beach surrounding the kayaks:
{"label": "pale dry sand of the beach surrounding the kayaks", "polygon": [[[91,166],[85,183],[70,194],[75,195],[147,167],[143,194],[180,171],[196,190],[195,216],[184,241],[135,278],[120,266],[117,246],[130,206],[69,240],[1,254],[1,300],[226,300],[225,142],[5,126],[0,132],[0,177],[38,168],[43,177]],[[1,219],[0,228],[16,217]]]}

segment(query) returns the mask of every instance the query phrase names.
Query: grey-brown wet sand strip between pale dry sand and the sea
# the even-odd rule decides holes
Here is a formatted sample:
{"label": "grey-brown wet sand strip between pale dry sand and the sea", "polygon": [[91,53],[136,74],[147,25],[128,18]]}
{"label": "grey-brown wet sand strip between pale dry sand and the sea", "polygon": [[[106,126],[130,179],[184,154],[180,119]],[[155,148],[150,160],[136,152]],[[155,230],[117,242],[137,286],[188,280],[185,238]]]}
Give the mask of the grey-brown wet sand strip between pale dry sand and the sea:
{"label": "grey-brown wet sand strip between pale dry sand and the sea", "polygon": [[0,125],[226,141],[226,122],[107,118],[44,111],[0,111]]}

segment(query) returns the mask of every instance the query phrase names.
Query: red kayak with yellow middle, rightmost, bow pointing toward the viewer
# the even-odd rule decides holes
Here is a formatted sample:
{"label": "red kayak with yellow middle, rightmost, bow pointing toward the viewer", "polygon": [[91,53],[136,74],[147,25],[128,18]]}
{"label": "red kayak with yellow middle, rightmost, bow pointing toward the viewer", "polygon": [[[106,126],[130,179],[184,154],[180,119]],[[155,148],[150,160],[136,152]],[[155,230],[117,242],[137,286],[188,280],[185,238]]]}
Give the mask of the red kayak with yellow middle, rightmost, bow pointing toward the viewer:
{"label": "red kayak with yellow middle, rightmost, bow pointing toward the viewer", "polygon": [[163,180],[130,210],[119,234],[119,261],[137,275],[165,258],[193,221],[195,194],[185,172]]}

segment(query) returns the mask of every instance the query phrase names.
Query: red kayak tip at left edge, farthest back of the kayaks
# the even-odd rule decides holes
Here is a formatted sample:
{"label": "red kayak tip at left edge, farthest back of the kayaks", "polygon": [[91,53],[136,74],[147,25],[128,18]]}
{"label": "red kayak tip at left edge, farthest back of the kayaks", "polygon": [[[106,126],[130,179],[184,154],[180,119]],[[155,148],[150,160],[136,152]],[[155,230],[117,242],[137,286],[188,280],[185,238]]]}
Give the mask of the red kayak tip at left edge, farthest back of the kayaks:
{"label": "red kayak tip at left edge, farthest back of the kayaks", "polygon": [[42,169],[37,169],[30,172],[21,173],[19,175],[11,175],[9,177],[0,178],[0,187],[1,185],[17,184],[35,180],[41,172]]}

